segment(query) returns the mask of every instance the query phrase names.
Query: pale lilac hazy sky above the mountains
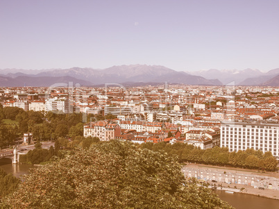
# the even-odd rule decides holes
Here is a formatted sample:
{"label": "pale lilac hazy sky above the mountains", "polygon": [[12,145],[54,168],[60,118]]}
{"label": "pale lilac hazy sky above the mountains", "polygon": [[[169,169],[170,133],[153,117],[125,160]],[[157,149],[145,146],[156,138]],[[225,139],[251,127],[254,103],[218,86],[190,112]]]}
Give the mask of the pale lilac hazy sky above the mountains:
{"label": "pale lilac hazy sky above the mountains", "polygon": [[0,69],[279,67],[278,0],[0,0]]}

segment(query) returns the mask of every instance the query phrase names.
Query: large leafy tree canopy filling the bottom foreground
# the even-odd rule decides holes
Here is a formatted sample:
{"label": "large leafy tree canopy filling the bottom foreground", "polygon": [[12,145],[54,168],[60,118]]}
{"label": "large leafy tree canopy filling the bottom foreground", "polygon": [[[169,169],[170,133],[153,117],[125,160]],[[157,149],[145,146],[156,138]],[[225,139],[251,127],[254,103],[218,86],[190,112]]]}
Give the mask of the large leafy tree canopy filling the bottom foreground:
{"label": "large leafy tree canopy filling the bottom foreground", "polygon": [[7,208],[231,208],[167,153],[111,140],[33,169]]}

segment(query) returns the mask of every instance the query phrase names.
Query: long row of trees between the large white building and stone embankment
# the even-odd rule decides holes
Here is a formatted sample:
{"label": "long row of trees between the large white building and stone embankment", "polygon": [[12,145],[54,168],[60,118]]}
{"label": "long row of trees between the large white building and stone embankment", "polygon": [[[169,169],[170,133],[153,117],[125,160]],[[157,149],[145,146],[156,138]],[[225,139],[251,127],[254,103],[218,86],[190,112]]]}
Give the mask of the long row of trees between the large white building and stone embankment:
{"label": "long row of trees between the large white building and stone embankment", "polygon": [[166,151],[171,155],[178,156],[180,162],[191,161],[210,165],[229,165],[249,169],[265,169],[271,172],[276,171],[278,165],[276,158],[272,156],[271,152],[262,153],[262,151],[255,151],[254,149],[229,152],[226,147],[214,147],[203,150],[189,144],[175,143],[171,145],[165,142],[157,144],[144,143],[140,144],[140,147],[153,151]]}

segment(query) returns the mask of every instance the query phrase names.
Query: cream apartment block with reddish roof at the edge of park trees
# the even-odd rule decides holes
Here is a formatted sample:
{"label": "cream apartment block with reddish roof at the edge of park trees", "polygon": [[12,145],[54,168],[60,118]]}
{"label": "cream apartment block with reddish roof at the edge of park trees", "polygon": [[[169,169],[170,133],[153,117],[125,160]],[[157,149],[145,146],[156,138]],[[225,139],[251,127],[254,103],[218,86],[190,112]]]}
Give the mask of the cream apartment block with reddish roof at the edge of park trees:
{"label": "cream apartment block with reddish roof at the edge of park trees", "polygon": [[121,134],[118,124],[110,124],[107,120],[92,122],[83,126],[84,137],[99,137],[101,141],[109,141]]}

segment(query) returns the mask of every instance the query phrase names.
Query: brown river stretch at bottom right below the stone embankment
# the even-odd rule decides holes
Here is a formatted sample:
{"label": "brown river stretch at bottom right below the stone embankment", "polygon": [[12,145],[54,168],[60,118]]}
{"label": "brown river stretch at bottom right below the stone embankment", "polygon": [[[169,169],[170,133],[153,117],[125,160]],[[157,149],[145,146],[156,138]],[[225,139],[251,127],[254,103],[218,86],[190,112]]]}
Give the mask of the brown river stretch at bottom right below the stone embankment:
{"label": "brown river stretch at bottom right below the stone embankment", "polygon": [[279,200],[268,199],[264,197],[257,197],[251,194],[241,194],[241,193],[226,193],[225,191],[217,190],[215,192],[218,194],[219,198],[223,201],[228,202],[231,206],[236,209],[278,209]]}

